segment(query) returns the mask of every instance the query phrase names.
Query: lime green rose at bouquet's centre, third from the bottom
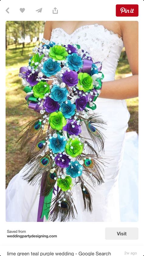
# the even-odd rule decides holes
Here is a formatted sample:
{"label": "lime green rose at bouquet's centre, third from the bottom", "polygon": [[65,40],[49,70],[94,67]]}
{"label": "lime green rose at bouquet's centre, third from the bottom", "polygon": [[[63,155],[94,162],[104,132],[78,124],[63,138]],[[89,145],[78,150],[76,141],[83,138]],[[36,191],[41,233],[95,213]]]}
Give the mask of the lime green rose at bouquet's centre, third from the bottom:
{"label": "lime green rose at bouquet's centre, third from the bottom", "polygon": [[49,124],[52,129],[59,131],[62,130],[63,126],[67,124],[67,121],[62,112],[58,111],[50,114]]}

